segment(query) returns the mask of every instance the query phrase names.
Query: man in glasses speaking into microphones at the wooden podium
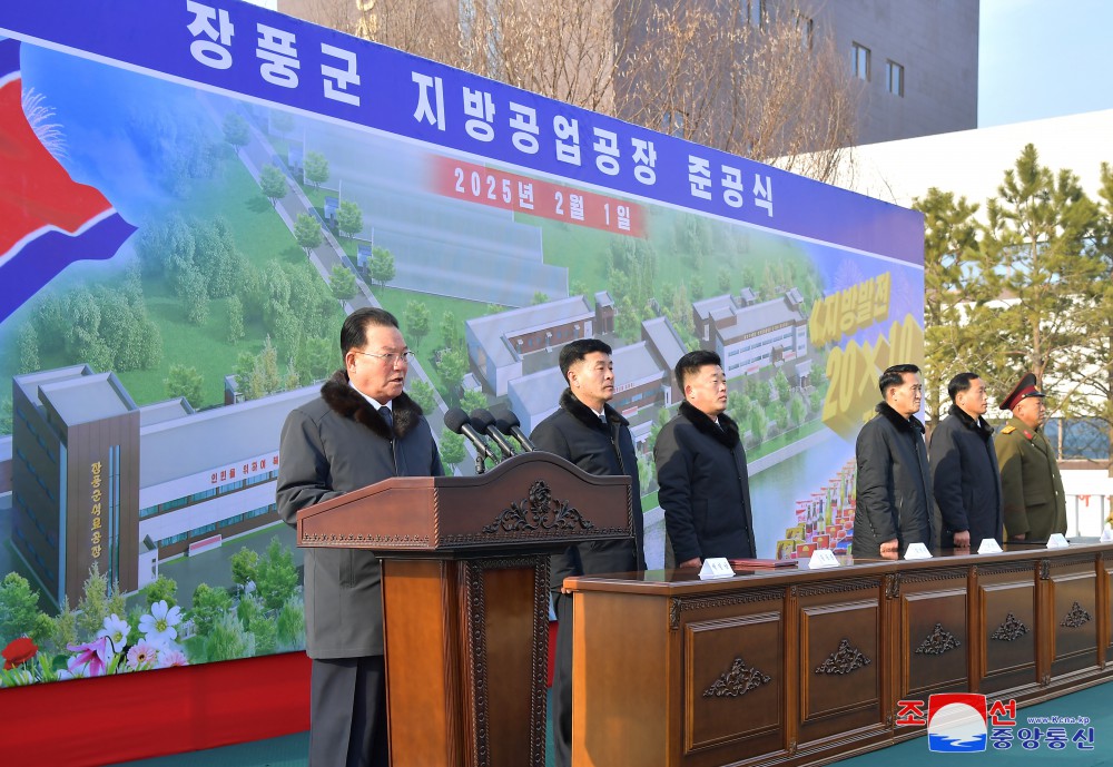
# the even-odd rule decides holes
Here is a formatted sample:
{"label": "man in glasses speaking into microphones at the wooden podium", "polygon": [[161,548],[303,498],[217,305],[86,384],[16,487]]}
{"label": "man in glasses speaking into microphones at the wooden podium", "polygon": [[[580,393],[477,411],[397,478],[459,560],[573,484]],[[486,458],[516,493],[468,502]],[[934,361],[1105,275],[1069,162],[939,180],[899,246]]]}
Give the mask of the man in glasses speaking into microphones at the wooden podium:
{"label": "man in glasses speaking into microphones at the wooden podium", "polygon": [[[440,476],[422,410],[403,393],[412,352],[394,315],[361,308],[341,330],[344,370],[292,412],[279,446],[278,513],[391,476]],[[305,643],[313,659],[311,767],[388,767],[378,559],[362,549],[305,549]]]}

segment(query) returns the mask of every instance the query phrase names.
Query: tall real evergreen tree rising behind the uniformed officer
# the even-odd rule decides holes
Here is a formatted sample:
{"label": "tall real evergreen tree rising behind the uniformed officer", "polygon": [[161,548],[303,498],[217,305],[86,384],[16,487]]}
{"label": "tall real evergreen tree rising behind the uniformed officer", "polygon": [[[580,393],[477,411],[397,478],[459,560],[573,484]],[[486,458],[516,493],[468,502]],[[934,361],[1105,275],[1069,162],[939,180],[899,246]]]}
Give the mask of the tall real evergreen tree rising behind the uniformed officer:
{"label": "tall real evergreen tree rising behind the uniformed officer", "polygon": [[1016,297],[996,313],[993,328],[1012,373],[1007,380],[1024,372],[1041,383],[1047,373],[1070,377],[1081,362],[1078,296],[1102,277],[1101,259],[1087,247],[1101,218],[1097,205],[1072,171],[1041,165],[1030,144],[1005,171],[986,218],[983,248],[1004,265],[1002,288]]}

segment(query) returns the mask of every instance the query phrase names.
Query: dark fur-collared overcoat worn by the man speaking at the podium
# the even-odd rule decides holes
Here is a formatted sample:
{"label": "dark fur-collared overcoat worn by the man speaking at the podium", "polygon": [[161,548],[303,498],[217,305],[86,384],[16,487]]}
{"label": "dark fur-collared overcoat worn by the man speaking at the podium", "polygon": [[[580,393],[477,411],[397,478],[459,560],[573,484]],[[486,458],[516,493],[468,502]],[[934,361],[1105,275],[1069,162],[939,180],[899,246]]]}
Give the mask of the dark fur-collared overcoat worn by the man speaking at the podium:
{"label": "dark fur-collared overcoat worn by the man speaking at the podium", "polygon": [[[338,371],[314,400],[287,417],[278,449],[278,514],[391,476],[439,476],[441,456],[421,407],[405,394],[391,404],[393,433]],[[378,558],[361,549],[305,551],[305,643],[311,658],[383,655]]]}

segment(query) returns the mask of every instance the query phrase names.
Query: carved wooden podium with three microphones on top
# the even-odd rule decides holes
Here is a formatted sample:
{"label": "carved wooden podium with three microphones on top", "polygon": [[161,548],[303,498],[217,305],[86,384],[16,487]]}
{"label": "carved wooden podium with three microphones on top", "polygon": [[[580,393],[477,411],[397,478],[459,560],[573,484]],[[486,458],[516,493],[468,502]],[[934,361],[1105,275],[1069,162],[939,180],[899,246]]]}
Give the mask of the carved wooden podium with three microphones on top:
{"label": "carved wooden podium with three microphones on top", "polygon": [[629,478],[534,452],[298,512],[298,545],[383,560],[394,767],[544,767],[548,555],[629,538],[631,501]]}

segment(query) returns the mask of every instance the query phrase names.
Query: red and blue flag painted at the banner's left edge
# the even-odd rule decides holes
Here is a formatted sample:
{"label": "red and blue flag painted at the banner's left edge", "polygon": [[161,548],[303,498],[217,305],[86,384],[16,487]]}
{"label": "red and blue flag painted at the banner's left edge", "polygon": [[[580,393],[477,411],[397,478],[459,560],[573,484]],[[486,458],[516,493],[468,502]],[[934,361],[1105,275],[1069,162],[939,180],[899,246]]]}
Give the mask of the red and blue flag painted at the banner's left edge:
{"label": "red and blue flag painted at the banner's left edge", "polygon": [[23,112],[18,40],[0,40],[0,322],[82,259],[111,258],[136,230],[78,184]]}

